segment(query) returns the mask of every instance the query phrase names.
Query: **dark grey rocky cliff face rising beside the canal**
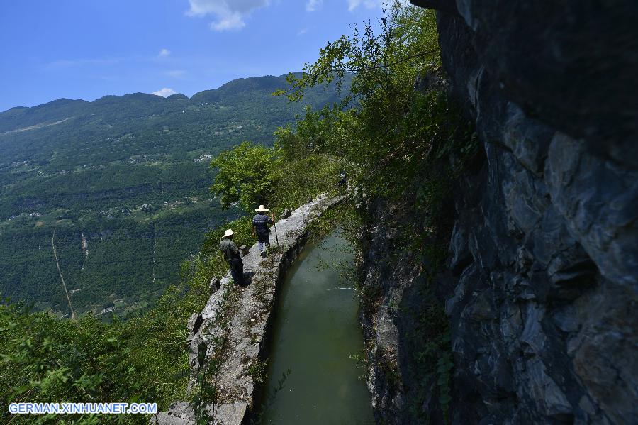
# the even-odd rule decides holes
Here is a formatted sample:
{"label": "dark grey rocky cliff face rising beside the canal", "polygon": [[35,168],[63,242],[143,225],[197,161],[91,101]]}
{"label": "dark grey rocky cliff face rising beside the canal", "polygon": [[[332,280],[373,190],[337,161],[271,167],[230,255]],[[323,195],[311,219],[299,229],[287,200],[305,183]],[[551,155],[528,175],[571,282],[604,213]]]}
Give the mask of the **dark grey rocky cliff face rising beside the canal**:
{"label": "dark grey rocky cliff face rising beside the canal", "polygon": [[453,423],[638,423],[638,5],[413,3],[438,9],[450,89],[485,155],[456,182],[435,299],[420,296],[422,261],[389,259],[401,207],[373,207],[362,277],[381,301],[364,324],[391,365],[371,369],[379,419],[443,420],[410,332],[444,304]]}

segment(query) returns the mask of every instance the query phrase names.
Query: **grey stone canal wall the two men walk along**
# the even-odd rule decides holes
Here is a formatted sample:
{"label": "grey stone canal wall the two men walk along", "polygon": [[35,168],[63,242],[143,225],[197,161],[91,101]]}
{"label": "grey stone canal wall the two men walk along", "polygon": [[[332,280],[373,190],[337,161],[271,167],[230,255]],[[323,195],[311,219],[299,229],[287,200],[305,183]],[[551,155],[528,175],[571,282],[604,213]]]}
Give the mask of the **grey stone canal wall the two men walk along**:
{"label": "grey stone canal wall the two men walk along", "polygon": [[[201,313],[191,317],[188,337],[191,346],[189,364],[194,373],[201,368],[201,363],[212,361],[207,358],[216,352],[211,347],[217,341],[224,341],[220,355],[222,363],[215,377],[219,388],[217,404],[206,406],[212,417],[211,424],[244,424],[255,413],[262,382],[258,375],[259,365],[267,359],[272,312],[281,282],[306,243],[308,224],[342,199],[318,197],[291,211],[286,219],[277,221],[279,250],[264,259],[255,244],[243,257],[244,273],[249,280],[246,287],[234,285],[230,274],[221,280],[211,280],[214,293]],[[233,302],[225,304],[228,298]],[[227,307],[222,309],[222,305]],[[218,321],[220,314],[226,315],[228,321]],[[189,388],[194,383],[191,380]],[[176,402],[168,412],[153,416],[150,423],[194,424],[194,410],[189,403]]]}

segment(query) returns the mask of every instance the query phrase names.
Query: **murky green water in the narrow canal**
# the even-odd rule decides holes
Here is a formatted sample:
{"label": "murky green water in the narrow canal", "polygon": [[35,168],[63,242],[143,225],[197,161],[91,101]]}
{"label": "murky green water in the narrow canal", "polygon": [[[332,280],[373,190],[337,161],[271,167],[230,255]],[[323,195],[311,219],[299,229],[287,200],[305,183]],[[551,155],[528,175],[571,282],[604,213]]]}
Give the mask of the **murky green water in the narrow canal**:
{"label": "murky green water in the narrow canal", "polygon": [[274,323],[263,424],[374,424],[359,379],[364,370],[350,358],[364,346],[353,268],[354,250],[335,232],[306,246],[289,270]]}

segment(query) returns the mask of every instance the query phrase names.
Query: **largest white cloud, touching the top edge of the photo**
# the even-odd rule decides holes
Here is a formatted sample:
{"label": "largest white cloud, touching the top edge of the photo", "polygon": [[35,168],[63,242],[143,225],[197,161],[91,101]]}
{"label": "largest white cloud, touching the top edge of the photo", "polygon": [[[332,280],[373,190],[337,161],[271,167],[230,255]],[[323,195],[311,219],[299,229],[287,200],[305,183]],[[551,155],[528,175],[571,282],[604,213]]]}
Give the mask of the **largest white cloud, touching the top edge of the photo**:
{"label": "largest white cloud, touching the top edge of the photo", "polygon": [[216,21],[211,22],[215,31],[238,30],[244,28],[245,16],[254,9],[268,6],[270,0],[189,0],[191,9],[188,16],[213,15]]}

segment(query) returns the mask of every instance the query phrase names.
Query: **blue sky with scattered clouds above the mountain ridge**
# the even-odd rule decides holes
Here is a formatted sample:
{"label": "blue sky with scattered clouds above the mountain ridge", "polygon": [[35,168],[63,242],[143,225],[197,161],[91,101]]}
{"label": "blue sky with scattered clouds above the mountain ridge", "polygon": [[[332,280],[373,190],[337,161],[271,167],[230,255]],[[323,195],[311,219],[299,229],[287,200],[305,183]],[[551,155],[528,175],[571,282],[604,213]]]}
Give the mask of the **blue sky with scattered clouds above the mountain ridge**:
{"label": "blue sky with scattered clouds above the mountain ridge", "polygon": [[381,0],[2,1],[0,111],[60,97],[191,96],[298,71],[380,14]]}

